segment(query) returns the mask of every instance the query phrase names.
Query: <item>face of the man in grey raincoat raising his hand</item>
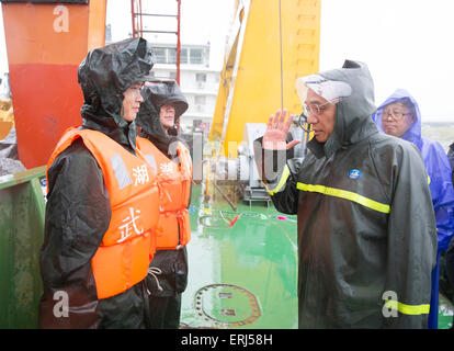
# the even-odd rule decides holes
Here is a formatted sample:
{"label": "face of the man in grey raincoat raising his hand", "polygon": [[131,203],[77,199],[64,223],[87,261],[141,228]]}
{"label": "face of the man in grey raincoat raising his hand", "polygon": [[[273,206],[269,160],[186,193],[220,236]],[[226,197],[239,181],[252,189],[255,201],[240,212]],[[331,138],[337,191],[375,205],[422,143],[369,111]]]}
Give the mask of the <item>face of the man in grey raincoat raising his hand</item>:
{"label": "face of the man in grey raincoat raising his hand", "polygon": [[317,95],[314,90],[307,91],[305,104],[309,106],[307,123],[313,125],[315,138],[319,143],[329,139],[336,125],[336,105]]}

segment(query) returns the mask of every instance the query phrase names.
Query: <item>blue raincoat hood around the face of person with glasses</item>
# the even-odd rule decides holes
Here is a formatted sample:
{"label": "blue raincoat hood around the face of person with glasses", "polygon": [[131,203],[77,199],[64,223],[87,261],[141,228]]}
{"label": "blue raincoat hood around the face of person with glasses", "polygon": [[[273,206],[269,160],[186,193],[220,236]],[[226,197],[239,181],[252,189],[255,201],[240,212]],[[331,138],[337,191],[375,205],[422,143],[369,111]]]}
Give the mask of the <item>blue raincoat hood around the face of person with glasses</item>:
{"label": "blue raincoat hood around the face of person with glasses", "polygon": [[416,121],[411,124],[411,126],[408,128],[408,131],[401,136],[402,139],[413,143],[418,146],[419,149],[422,147],[422,138],[421,138],[421,113],[419,111],[418,103],[416,102],[415,98],[410,95],[410,93],[405,89],[397,89],[390,97],[388,97],[385,102],[383,102],[377,111],[372,115],[372,120],[375,122],[375,124],[378,126],[378,128],[383,131],[383,123],[382,123],[382,116],[383,111],[385,110],[385,106],[398,102],[402,99],[409,99],[411,103],[415,106],[416,112]]}

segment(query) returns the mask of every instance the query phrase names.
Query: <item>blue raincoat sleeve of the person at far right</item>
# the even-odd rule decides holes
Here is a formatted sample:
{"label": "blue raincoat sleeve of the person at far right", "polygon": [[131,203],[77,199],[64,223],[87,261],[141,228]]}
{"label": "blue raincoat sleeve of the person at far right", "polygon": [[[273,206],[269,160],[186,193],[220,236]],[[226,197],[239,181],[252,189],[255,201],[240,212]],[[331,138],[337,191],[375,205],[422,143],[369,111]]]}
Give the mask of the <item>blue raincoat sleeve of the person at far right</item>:
{"label": "blue raincoat sleeve of the person at far right", "polygon": [[430,192],[439,238],[439,251],[445,251],[454,234],[454,189],[450,161],[439,143],[432,143],[425,159]]}

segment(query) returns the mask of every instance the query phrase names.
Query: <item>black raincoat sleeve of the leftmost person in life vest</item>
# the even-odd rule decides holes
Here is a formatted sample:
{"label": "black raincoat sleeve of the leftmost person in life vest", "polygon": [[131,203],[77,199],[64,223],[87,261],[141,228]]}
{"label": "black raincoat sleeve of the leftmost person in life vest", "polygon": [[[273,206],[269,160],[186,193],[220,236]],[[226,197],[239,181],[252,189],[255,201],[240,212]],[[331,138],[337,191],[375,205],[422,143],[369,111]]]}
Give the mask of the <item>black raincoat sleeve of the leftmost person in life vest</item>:
{"label": "black raincoat sleeve of the leftmost person in life vest", "polygon": [[91,258],[111,218],[95,159],[76,140],[48,170],[45,237],[39,254],[44,293],[41,328],[97,328],[98,296]]}

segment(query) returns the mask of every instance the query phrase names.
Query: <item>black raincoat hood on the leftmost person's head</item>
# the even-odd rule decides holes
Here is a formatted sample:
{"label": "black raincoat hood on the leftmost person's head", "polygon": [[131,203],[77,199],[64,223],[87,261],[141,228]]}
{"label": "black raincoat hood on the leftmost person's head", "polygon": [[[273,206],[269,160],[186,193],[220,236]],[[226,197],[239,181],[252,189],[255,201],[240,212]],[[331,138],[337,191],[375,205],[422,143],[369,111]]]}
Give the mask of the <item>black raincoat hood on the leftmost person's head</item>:
{"label": "black raincoat hood on the leftmost person's head", "polygon": [[155,64],[151,47],[143,38],[129,38],[91,50],[79,66],[84,103],[84,127],[100,131],[122,145],[136,147],[135,122],[122,116],[123,92],[148,79]]}

